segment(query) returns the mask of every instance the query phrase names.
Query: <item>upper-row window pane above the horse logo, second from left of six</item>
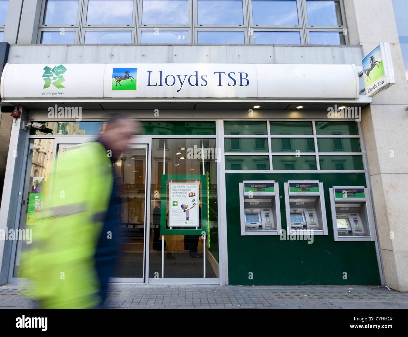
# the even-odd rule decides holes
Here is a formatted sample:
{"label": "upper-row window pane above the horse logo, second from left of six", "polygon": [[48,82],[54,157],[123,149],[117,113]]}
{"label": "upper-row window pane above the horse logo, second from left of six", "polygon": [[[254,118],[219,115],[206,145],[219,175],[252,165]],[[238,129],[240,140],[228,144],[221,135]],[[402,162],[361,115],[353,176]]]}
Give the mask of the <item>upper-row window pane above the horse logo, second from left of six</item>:
{"label": "upper-row window pane above the horse logo, second from left of six", "polygon": [[88,0],[86,24],[132,24],[132,15],[133,0]]}

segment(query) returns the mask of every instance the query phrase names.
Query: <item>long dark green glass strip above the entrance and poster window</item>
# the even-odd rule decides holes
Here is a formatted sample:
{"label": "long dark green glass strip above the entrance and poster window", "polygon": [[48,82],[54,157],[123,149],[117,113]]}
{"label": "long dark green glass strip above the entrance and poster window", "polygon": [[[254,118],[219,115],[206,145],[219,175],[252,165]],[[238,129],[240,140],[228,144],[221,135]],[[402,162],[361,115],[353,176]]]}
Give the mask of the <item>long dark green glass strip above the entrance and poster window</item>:
{"label": "long dark green glass strip above the entrance and poster window", "polygon": [[141,122],[142,135],[215,135],[215,122]]}

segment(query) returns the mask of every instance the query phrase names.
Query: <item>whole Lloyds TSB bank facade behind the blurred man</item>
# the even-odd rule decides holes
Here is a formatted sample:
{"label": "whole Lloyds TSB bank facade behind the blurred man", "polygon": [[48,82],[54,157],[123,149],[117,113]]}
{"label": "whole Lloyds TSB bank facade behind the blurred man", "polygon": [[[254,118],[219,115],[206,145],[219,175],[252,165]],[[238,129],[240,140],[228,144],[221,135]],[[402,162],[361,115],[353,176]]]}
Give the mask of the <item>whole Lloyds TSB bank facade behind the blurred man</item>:
{"label": "whole Lloyds TSB bank facade behind the blurred man", "polygon": [[[16,118],[1,229],[35,228],[58,155],[126,114],[141,130],[114,165],[113,282],[407,291],[408,90],[395,21],[373,33],[371,9],[347,0],[123,1],[126,15],[113,1],[73,1],[76,12],[9,2],[0,94]],[[361,59],[381,42],[395,84],[371,98]],[[30,244],[0,241],[1,283],[24,281]]]}

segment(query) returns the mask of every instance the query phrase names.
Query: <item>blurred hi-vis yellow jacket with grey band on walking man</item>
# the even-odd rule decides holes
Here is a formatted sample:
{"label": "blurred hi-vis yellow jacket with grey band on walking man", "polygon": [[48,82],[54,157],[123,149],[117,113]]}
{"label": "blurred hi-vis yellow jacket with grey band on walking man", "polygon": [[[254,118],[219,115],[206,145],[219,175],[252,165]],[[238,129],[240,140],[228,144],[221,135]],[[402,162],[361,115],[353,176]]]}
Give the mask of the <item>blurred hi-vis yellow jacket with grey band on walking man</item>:
{"label": "blurred hi-vis yellow jacket with grey band on walking man", "polygon": [[[109,153],[100,142],[60,153],[21,276],[34,280],[44,309],[86,309],[99,304],[94,254],[113,187]],[[108,235],[106,233],[102,235]]]}

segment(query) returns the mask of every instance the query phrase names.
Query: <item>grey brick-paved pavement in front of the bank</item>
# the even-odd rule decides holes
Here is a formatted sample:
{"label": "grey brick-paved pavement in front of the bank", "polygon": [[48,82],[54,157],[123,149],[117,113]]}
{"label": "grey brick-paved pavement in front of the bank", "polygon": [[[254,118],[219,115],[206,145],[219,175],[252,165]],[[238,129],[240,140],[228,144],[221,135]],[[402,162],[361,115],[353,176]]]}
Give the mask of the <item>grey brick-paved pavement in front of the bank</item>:
{"label": "grey brick-paved pavement in front of the bank", "polygon": [[[0,309],[34,309],[29,284],[0,286]],[[408,293],[377,286],[111,284],[109,309],[408,309]]]}

